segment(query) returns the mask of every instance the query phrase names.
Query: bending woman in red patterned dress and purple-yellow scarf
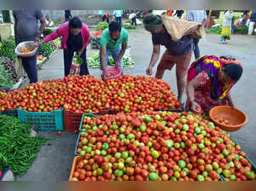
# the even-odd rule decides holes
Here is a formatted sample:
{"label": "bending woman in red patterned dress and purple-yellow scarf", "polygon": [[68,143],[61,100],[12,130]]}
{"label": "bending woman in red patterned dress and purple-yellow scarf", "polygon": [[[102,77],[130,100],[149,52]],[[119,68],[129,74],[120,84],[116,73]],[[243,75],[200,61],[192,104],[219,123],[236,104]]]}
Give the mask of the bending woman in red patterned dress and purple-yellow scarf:
{"label": "bending woman in red patterned dress and purple-yellow scarf", "polygon": [[189,67],[186,110],[208,113],[216,106],[234,107],[230,90],[241,74],[241,62],[235,59],[202,56]]}

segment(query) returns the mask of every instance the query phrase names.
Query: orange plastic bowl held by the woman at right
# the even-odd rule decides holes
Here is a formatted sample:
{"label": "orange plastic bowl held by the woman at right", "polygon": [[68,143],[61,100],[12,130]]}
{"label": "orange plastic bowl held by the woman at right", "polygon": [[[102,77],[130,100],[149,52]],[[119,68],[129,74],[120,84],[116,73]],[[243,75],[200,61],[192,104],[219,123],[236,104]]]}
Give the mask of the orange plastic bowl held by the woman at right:
{"label": "orange plastic bowl held by the woman at right", "polygon": [[[214,124],[226,131],[236,131],[239,130],[243,125],[247,124],[246,114],[233,107],[213,107],[209,113],[209,116]],[[220,124],[218,120],[216,120],[218,117],[229,120],[231,124]]]}

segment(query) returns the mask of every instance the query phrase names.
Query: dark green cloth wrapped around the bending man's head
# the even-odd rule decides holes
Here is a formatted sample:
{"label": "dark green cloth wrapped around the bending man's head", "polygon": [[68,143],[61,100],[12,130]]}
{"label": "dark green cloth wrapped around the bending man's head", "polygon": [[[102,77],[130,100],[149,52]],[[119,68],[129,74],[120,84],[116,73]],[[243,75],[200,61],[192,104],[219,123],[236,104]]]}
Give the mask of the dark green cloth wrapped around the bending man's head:
{"label": "dark green cloth wrapped around the bending man's head", "polygon": [[152,32],[154,29],[158,29],[163,26],[163,20],[160,15],[147,14],[144,16],[143,24],[148,32]]}

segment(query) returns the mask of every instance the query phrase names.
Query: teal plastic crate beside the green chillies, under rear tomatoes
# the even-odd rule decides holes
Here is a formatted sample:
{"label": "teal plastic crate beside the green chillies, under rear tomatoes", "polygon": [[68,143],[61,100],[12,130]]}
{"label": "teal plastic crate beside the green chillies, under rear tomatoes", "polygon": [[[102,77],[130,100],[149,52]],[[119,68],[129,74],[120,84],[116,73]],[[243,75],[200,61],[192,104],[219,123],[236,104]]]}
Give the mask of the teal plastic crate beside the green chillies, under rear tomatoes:
{"label": "teal plastic crate beside the green chillies, under rear tomatoes", "polygon": [[52,112],[27,112],[17,109],[20,121],[33,124],[38,130],[64,130],[63,108]]}

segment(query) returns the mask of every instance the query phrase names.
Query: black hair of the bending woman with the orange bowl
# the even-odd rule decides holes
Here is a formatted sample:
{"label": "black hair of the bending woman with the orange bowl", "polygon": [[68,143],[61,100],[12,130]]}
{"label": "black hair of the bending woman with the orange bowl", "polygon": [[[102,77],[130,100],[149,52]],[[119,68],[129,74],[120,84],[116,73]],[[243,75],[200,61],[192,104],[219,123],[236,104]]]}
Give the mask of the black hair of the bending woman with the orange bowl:
{"label": "black hair of the bending woman with the orange bowl", "polygon": [[224,73],[231,79],[238,81],[241,78],[242,67],[236,63],[230,63],[224,66]]}

